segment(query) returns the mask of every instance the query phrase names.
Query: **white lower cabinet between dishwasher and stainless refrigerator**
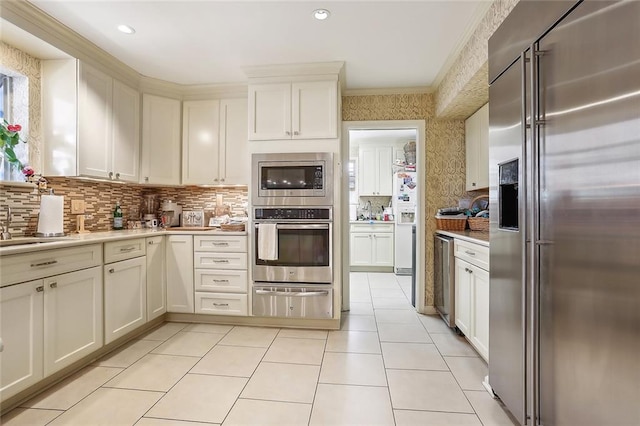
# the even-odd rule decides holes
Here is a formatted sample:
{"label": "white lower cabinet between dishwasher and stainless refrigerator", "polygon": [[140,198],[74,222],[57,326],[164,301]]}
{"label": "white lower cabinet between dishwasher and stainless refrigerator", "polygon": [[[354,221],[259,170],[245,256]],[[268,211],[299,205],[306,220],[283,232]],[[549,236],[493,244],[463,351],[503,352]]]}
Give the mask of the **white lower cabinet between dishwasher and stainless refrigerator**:
{"label": "white lower cabinet between dishwasher and stainless refrigerator", "polygon": [[456,326],[488,361],[489,249],[456,239],[454,250]]}

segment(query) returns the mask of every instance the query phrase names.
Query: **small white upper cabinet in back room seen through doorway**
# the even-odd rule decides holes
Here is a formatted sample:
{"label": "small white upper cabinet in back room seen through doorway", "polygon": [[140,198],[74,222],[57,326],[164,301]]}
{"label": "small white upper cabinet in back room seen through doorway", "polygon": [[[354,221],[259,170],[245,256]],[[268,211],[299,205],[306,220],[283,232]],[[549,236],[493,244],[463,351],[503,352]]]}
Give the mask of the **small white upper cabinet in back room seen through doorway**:
{"label": "small white upper cabinet in back room seen through doorway", "polygon": [[359,150],[359,195],[391,196],[393,192],[393,147],[361,146]]}

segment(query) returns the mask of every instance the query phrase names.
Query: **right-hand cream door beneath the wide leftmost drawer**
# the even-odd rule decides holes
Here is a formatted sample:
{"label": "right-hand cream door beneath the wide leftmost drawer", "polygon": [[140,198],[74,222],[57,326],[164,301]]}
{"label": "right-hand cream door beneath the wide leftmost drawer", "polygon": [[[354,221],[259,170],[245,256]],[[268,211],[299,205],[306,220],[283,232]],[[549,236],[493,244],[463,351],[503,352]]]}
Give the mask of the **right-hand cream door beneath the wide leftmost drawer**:
{"label": "right-hand cream door beneath the wide leftmost drawer", "polygon": [[44,374],[102,347],[102,268],[44,279]]}

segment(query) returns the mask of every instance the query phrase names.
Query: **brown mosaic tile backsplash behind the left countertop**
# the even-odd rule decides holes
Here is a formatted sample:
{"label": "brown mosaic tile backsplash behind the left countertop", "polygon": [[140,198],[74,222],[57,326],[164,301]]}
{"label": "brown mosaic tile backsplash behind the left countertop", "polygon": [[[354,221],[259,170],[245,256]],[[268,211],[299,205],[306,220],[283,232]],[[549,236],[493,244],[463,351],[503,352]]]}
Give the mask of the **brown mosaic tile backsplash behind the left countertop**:
{"label": "brown mosaic tile backsplash behind the left countertop", "polygon": [[[76,178],[47,178],[49,188],[56,195],[64,196],[64,232],[72,233],[76,229],[76,215],[71,214],[71,200],[85,201],[85,229],[92,232],[108,231],[113,223],[113,208],[120,202],[126,222],[134,209],[140,211],[143,196],[158,194],[161,201],[172,200],[184,210],[213,209],[217,195],[222,195],[222,203],[231,208],[233,216],[246,215],[248,201],[246,188],[201,188],[162,187],[151,188],[135,184],[118,184]],[[9,205],[12,208],[10,231],[13,236],[31,236],[38,226],[40,196],[35,191],[4,186],[0,188],[0,207]],[[0,209],[0,221],[5,220],[6,212]]]}

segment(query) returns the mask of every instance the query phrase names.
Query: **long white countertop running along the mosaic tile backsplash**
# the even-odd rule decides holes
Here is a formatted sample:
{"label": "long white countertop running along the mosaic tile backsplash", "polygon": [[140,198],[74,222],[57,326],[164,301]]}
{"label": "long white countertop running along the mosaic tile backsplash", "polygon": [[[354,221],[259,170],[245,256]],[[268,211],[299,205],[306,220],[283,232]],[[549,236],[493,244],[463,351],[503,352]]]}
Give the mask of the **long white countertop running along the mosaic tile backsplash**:
{"label": "long white countertop running along the mosaic tile backsplash", "polygon": [[[164,229],[123,229],[121,231],[91,232],[88,234],[70,234],[64,239],[54,238],[55,241],[37,244],[18,244],[6,247],[0,247],[0,256],[10,254],[30,253],[40,250],[49,250],[54,248],[72,247],[83,244],[104,243],[107,241],[127,240],[131,238],[153,237],[156,235],[247,235],[246,232],[237,231],[221,231],[212,229],[207,231],[190,231],[181,229],[176,231],[165,231]],[[14,240],[19,241],[21,238],[16,237]]]}

